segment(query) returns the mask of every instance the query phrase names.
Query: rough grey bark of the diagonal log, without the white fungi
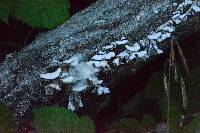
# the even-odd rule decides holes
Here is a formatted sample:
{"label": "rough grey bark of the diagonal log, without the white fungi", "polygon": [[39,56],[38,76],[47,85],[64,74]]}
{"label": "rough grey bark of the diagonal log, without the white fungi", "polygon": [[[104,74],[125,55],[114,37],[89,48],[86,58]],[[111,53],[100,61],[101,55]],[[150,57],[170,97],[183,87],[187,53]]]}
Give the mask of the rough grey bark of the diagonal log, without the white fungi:
{"label": "rough grey bark of the diagonal log, without the white fungi", "polygon": [[[96,50],[125,36],[132,44],[167,22],[180,0],[99,0],[77,13],[55,30],[40,35],[28,47],[9,55],[0,66],[0,100],[23,116],[34,103],[45,103],[40,74],[53,60],[63,60],[80,53],[89,61]],[[155,12],[154,10],[158,11]],[[200,30],[199,13],[177,25],[176,37]],[[166,41],[160,43],[165,49]],[[133,75],[147,60],[111,67],[106,81],[112,87],[119,76]]]}

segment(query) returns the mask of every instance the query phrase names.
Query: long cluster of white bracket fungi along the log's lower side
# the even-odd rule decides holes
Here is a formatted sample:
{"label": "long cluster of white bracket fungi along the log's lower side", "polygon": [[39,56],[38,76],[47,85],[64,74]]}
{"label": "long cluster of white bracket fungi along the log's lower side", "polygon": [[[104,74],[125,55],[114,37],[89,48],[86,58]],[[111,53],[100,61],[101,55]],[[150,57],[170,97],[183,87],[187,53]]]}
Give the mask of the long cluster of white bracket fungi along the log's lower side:
{"label": "long cluster of white bracket fungi along the log's lower side", "polygon": [[[58,68],[53,73],[41,74],[40,78],[47,80],[59,78],[63,83],[70,84],[72,92],[68,100],[68,109],[72,111],[76,109],[75,105],[78,105],[78,107],[83,106],[79,94],[89,87],[88,81],[96,87],[98,95],[110,93],[109,88],[102,87],[103,81],[97,78],[97,73],[100,70],[108,70],[107,68],[111,65],[109,62],[119,67],[120,64],[124,64],[121,61],[122,59],[130,62],[135,58],[149,58],[151,56],[151,53],[148,53],[149,49],[155,51],[153,54],[163,53],[163,51],[158,48],[157,43],[170,38],[171,33],[175,31],[175,26],[177,24],[186,21],[188,17],[194,15],[194,13],[200,12],[200,2],[192,0],[184,0],[179,5],[173,3],[173,6],[178,7],[173,12],[170,20],[159,26],[155,31],[152,31],[138,42],[131,44],[125,37],[122,37],[121,40],[102,47],[103,51],[97,51],[97,54],[93,55],[91,60],[88,62],[81,62],[81,56],[76,55],[62,62],[69,65],[70,68],[68,71],[62,71],[61,68]],[[184,11],[184,7],[188,7],[189,9]],[[155,12],[158,13],[157,10]],[[124,46],[125,50],[115,53],[113,49],[117,48],[119,45]],[[141,49],[140,46],[143,46],[144,48]],[[60,86],[56,84],[50,84],[47,85],[47,87],[60,90]]]}

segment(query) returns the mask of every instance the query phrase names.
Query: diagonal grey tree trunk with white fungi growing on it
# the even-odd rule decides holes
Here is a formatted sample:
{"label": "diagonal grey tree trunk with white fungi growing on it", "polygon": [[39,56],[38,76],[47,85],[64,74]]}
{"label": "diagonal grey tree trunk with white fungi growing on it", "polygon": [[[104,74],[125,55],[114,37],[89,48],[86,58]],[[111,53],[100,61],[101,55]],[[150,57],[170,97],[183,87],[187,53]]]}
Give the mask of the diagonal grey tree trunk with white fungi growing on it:
{"label": "diagonal grey tree trunk with white fungi growing on it", "polygon": [[[0,100],[20,117],[35,103],[48,101],[45,88],[50,83],[62,89],[68,86],[73,94],[84,92],[85,86],[106,93],[98,87],[112,90],[127,73],[134,76],[141,66],[165,52],[172,34],[184,38],[200,31],[199,6],[199,2],[181,0],[99,0],[7,56],[0,66]],[[53,70],[61,68],[74,78],[74,72],[83,71],[86,77],[67,84],[58,76],[41,76],[53,71],[49,68],[55,60]],[[92,71],[89,76],[87,71]],[[100,80],[103,83],[95,83]]]}

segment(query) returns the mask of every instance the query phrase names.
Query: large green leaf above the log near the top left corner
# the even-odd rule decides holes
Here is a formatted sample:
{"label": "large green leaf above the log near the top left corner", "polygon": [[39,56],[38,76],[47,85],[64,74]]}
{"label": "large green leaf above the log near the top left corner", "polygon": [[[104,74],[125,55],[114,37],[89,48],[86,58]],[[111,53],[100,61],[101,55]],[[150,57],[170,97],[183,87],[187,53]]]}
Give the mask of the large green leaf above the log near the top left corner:
{"label": "large green leaf above the log near the top left corner", "polygon": [[18,0],[12,15],[37,28],[54,28],[69,17],[67,0]]}

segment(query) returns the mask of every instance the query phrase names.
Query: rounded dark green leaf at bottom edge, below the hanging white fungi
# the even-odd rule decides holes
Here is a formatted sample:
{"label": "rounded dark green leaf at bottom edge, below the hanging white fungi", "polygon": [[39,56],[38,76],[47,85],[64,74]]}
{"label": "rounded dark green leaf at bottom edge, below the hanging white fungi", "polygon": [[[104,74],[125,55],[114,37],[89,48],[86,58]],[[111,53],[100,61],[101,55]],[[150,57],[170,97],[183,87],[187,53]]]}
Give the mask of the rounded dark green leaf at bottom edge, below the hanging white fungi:
{"label": "rounded dark green leaf at bottom edge, below the hanging white fungi", "polygon": [[65,108],[43,107],[35,109],[34,124],[37,133],[94,133],[93,121],[87,117],[78,117]]}

